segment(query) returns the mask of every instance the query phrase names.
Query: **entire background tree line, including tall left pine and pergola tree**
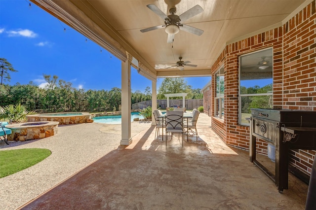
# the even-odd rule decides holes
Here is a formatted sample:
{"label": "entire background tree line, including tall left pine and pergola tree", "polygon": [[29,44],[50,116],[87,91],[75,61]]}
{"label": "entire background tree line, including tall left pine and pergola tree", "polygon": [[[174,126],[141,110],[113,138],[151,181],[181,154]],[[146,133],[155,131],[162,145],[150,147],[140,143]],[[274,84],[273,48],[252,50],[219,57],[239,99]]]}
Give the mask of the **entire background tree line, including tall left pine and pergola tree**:
{"label": "entire background tree line, including tall left pine and pergola tree", "polygon": [[[71,82],[58,79],[57,75],[43,74],[44,88],[34,82],[8,85],[10,72],[17,72],[4,58],[0,58],[0,106],[24,105],[27,110],[37,112],[87,111],[104,112],[121,109],[121,89],[83,90],[72,87]],[[202,99],[200,89],[192,89],[183,78],[165,78],[158,90],[158,99],[165,99],[166,93],[188,93],[187,99]],[[131,104],[152,100],[150,87],[145,93],[139,90],[131,93]]]}

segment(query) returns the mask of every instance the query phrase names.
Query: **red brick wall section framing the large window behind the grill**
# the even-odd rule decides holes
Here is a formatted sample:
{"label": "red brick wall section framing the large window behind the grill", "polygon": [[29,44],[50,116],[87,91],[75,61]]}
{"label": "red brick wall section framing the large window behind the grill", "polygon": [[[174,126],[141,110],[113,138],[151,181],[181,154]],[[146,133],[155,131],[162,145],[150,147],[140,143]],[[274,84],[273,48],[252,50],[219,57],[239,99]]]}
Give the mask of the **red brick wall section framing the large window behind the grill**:
{"label": "red brick wall section framing the large window behind the grill", "polygon": [[[215,72],[224,64],[225,76],[225,96],[224,123],[215,123],[212,120],[212,129],[219,135],[226,135],[224,141],[228,145],[249,149],[249,127],[238,125],[238,59],[240,55],[254,52],[267,47],[273,47],[274,59],[274,107],[279,108],[282,105],[282,27],[268,32],[254,35],[252,37],[237,41],[226,46],[217,62],[211,67],[212,72],[212,93],[215,97],[216,78]],[[212,106],[214,113],[214,106]],[[221,128],[224,126],[223,128]],[[218,132],[222,129],[223,131]],[[263,142],[261,144],[264,144]],[[266,152],[267,148],[262,148],[258,143],[258,152]]]}

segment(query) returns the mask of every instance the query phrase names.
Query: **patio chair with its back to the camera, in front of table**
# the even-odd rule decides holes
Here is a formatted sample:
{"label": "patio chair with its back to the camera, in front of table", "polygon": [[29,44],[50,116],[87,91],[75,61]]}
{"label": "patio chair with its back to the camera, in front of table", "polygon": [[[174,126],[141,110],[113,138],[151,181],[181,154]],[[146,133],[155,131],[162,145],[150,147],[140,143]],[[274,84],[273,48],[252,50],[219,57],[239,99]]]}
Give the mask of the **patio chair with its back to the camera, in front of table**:
{"label": "patio chair with its back to the camera, in front of table", "polygon": [[173,133],[180,134],[182,137],[182,146],[183,146],[183,111],[166,111],[166,146],[168,140],[168,133],[171,133],[171,140]]}

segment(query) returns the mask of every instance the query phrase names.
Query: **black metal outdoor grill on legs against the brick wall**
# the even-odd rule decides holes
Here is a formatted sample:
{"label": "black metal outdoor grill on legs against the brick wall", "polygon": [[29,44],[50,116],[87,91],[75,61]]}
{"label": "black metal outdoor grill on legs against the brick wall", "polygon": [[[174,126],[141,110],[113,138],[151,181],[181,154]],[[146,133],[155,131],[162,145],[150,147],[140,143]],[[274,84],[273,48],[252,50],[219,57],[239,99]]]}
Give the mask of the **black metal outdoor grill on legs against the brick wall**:
{"label": "black metal outdoor grill on legs against the brick wall", "polygon": [[[275,146],[275,175],[256,160],[256,138]],[[289,149],[316,149],[316,111],[251,109],[250,161],[275,182],[280,193],[288,189]],[[299,170],[292,173],[299,178],[305,175]]]}

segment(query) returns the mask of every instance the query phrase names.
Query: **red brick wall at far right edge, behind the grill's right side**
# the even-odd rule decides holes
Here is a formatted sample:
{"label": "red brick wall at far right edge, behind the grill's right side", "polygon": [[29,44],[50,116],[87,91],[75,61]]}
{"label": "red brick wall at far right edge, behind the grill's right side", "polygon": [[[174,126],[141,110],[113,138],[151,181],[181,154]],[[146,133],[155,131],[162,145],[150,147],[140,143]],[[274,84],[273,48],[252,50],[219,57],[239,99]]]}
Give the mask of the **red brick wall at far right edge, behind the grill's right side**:
{"label": "red brick wall at far right edge, behind the grill's right side", "polygon": [[[316,110],[315,1],[283,26],[283,108]],[[316,151],[292,150],[291,165],[311,173]]]}

